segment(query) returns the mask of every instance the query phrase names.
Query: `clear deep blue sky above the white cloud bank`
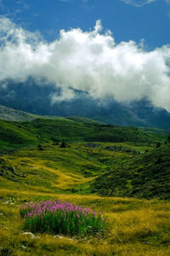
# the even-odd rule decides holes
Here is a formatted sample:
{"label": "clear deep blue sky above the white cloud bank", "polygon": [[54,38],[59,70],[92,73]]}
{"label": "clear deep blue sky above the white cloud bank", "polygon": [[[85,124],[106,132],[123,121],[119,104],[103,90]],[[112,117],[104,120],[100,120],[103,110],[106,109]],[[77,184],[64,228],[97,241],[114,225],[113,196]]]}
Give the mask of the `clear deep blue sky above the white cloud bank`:
{"label": "clear deep blue sky above the white cloud bank", "polygon": [[169,0],[1,0],[0,15],[48,41],[60,29],[87,31],[101,20],[117,43],[144,39],[147,49],[155,49],[170,42]]}

